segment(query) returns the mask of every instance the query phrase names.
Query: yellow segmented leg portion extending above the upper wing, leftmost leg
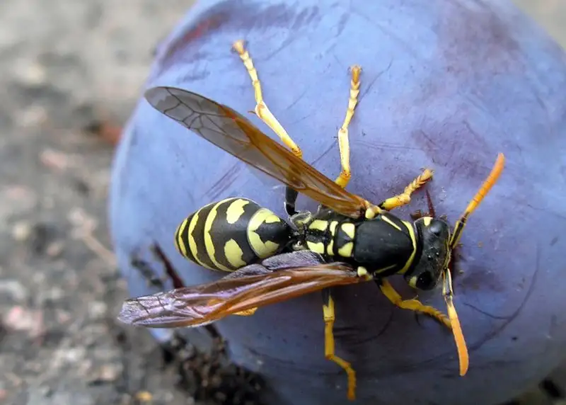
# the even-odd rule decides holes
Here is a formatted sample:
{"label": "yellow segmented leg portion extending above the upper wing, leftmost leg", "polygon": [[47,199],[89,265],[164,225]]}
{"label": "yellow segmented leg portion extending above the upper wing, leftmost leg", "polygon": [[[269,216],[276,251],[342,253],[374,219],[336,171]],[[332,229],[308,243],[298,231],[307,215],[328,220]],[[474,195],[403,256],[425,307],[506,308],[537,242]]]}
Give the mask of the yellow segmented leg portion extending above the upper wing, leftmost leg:
{"label": "yellow segmented leg portion extending above the upper wing, leftmost leg", "polygon": [[246,69],[248,70],[250,79],[252,79],[256,103],[254,109],[255,114],[258,115],[258,117],[261,118],[261,120],[265,122],[265,124],[270,127],[271,130],[275,132],[279,138],[281,138],[281,141],[285,144],[285,146],[291,149],[291,152],[293,152],[295,156],[302,158],[303,152],[301,151],[301,148],[299,148],[299,146],[293,141],[293,139],[289,137],[287,131],[284,129],[284,127],[282,127],[279,121],[277,121],[277,118],[275,118],[270,109],[267,108],[265,101],[263,101],[260,79],[258,78],[258,71],[253,66],[253,60],[250,57],[249,52],[243,46],[243,40],[234,42],[233,48],[234,50],[236,50],[236,52],[238,52],[238,55],[240,55],[244,66],[246,66]]}

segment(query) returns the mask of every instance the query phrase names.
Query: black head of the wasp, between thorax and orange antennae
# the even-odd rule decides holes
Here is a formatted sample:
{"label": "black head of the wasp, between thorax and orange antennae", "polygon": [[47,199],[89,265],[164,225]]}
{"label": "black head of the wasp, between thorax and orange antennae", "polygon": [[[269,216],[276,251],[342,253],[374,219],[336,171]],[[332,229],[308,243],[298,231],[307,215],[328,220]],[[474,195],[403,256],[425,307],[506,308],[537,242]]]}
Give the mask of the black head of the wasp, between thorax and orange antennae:
{"label": "black head of the wasp, between thorax and orange antennae", "polygon": [[415,221],[415,230],[420,239],[422,251],[412,271],[405,274],[411,287],[431,290],[437,285],[442,270],[450,258],[450,226],[441,219],[422,217]]}

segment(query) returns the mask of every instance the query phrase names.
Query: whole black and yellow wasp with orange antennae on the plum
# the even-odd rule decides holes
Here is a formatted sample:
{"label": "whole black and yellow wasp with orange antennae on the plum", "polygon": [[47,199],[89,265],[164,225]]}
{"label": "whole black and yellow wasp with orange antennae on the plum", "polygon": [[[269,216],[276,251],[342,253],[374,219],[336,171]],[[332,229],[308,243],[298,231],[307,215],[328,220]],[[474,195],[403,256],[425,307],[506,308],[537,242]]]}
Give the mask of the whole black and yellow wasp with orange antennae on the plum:
{"label": "whole black and yellow wasp with orange antennae on the plum", "polygon": [[[391,210],[410,202],[411,195],[432,179],[425,169],[402,193],[375,205],[345,188],[352,176],[348,126],[358,103],[361,68],[350,68],[350,98],[338,130],[340,175],[335,181],[302,159],[291,139],[263,100],[258,72],[243,41],[233,48],[246,67],[255,91],[255,114],[281,139],[262,133],[248,119],[197,93],[173,87],[146,91],[147,101],[164,115],[286,186],[288,221],[247,198],[210,203],[183,220],[175,246],[190,261],[230,272],[214,283],[182,287],[125,302],[120,319],[149,327],[202,326],[229,315],[249,316],[258,307],[321,291],[325,323],[325,358],[347,373],[347,397],[355,398],[356,373],[335,355],[335,304],[330,287],[373,280],[396,306],[432,316],[454,334],[460,374],[468,370],[468,350],[454,307],[451,253],[470,214],[496,183],[504,167],[499,154],[454,228],[432,214],[407,221]],[[316,212],[296,212],[299,193],[319,203]],[[291,255],[291,256],[286,256]],[[442,283],[447,316],[418,300],[403,300],[388,281],[403,275],[417,290]]]}

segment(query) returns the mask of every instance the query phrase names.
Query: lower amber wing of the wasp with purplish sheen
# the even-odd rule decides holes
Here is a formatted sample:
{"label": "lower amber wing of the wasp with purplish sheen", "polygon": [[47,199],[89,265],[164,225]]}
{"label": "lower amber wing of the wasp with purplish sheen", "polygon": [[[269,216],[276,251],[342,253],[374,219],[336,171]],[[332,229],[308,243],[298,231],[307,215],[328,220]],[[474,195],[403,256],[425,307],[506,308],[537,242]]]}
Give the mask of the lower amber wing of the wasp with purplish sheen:
{"label": "lower amber wing of the wasp with purplish sheen", "polygon": [[[241,272],[240,275],[236,273]],[[335,285],[364,281],[351,266],[328,263],[270,270],[241,268],[214,283],[127,300],[118,319],[152,328],[203,326],[247,309],[282,302]]]}

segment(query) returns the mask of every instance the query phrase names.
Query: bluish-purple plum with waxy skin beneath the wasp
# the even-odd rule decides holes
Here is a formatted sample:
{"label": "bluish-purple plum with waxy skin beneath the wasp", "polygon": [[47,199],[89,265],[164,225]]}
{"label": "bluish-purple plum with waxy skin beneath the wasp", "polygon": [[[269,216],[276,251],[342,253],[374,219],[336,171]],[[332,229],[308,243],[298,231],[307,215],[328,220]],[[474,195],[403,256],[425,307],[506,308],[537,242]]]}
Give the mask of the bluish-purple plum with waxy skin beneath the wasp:
{"label": "bluish-purple plum with waxy skin beneath the wasp", "polygon": [[[451,334],[393,307],[372,283],[335,290],[337,355],[358,372],[357,404],[496,404],[564,359],[566,57],[508,1],[206,1],[158,47],[148,87],[178,86],[246,114],[255,101],[231,42],[248,41],[272,113],[330,178],[351,64],[362,89],[350,126],[348,189],[379,202],[424,167],[438,214],[454,222],[498,152],[504,173],[461,239],[455,304],[470,349],[458,376]],[[140,100],[115,157],[110,224],[130,294],[156,290],[129,265],[157,241],[186,285],[221,274],[185,261],[178,223],[245,196],[284,215],[283,188]],[[426,209],[418,193],[408,217]],[[299,198],[299,207],[313,208]],[[159,266],[155,264],[155,266]],[[395,280],[405,297],[414,295]],[[445,310],[441,291],[420,295]],[[344,404],[324,359],[318,294],[216,323],[236,363],[270,384],[270,404]],[[167,331],[154,331],[167,333]],[[158,336],[166,340],[167,335]]]}

